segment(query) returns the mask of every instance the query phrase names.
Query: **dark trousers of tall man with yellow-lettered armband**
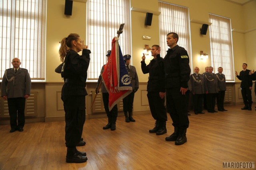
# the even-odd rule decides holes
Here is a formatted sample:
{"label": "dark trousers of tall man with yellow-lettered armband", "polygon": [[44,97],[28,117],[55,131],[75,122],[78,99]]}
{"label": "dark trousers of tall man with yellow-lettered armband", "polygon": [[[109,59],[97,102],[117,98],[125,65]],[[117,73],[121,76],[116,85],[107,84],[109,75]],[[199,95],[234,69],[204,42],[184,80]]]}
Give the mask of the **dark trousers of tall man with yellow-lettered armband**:
{"label": "dark trousers of tall man with yellow-lettered armband", "polygon": [[166,89],[167,112],[172,118],[172,125],[180,129],[186,129],[189,125],[188,112],[186,110],[186,96],[180,92],[180,87]]}

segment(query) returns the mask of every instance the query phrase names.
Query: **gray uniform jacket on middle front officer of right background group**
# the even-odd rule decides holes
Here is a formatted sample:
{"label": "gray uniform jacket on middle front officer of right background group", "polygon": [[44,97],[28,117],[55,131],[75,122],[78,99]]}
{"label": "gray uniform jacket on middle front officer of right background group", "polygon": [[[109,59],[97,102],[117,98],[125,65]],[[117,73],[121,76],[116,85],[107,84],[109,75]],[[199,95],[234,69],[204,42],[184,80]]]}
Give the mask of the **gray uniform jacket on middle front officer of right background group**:
{"label": "gray uniform jacket on middle front officer of right background group", "polygon": [[218,93],[218,80],[216,74],[205,73],[204,74],[204,92]]}

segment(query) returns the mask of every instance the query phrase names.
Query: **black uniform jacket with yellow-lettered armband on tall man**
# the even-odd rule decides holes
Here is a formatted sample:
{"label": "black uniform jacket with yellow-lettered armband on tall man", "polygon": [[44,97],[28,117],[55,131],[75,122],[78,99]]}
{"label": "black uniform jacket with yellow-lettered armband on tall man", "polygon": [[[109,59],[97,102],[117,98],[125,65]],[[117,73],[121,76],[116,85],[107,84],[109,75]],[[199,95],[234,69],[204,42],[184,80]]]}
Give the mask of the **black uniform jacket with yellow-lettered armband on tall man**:
{"label": "black uniform jacket with yellow-lettered armband on tall man", "polygon": [[176,45],[164,57],[165,88],[188,88],[190,76],[188,52]]}

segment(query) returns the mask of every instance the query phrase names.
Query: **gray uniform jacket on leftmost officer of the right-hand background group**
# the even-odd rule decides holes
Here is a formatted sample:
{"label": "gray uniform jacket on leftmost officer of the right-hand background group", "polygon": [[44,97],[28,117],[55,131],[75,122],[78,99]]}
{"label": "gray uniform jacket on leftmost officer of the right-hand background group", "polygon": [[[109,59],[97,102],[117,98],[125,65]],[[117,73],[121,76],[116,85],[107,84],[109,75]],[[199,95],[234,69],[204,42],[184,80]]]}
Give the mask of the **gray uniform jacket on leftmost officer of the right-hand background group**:
{"label": "gray uniform jacket on leftmost officer of the right-hand background group", "polygon": [[190,75],[190,82],[192,86],[192,93],[195,94],[204,94],[204,78],[202,74],[191,74]]}

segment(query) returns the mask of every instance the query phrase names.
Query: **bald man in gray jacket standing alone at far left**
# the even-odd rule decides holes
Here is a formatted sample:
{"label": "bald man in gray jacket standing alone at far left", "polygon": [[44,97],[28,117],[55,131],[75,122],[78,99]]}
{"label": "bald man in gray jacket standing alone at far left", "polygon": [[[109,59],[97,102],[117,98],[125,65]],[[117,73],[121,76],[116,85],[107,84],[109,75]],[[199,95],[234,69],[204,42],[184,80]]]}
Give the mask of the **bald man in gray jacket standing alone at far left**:
{"label": "bald man in gray jacket standing alone at far left", "polygon": [[23,131],[25,124],[25,102],[30,96],[31,90],[31,79],[28,70],[20,68],[20,64],[20,59],[12,59],[13,68],[5,70],[1,84],[2,98],[8,101],[10,133],[16,130]]}

